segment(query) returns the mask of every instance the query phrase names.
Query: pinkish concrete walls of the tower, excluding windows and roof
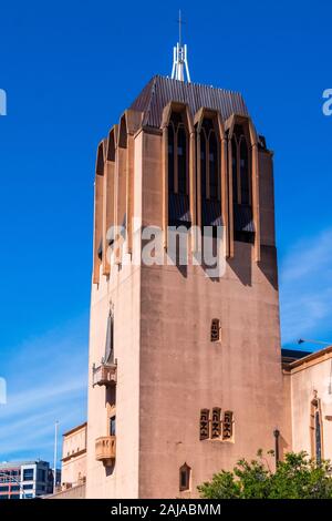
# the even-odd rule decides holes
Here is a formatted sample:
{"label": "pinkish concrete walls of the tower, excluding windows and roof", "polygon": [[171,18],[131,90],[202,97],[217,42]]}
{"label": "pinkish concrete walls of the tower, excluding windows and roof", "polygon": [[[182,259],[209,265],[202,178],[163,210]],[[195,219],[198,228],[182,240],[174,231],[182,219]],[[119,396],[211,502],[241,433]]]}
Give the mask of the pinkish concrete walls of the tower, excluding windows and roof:
{"label": "pinkish concrete walls of the tower, excluding windows and roof", "polygon": [[[221,94],[216,90],[217,101]],[[148,99],[146,91],[144,103]],[[225,121],[219,112],[198,108],[193,114],[188,105],[178,102],[163,102],[162,111],[162,102],[155,106],[151,98],[146,115],[143,109],[139,112],[143,101],[124,113],[118,130],[111,131],[97,155],[87,498],[197,497],[197,486],[214,472],[232,467],[241,457],[255,457],[260,448],[273,449],[276,428],[281,432],[281,450],[290,449],[291,442],[281,372],[272,154],[259,143],[245,111],[242,116]],[[235,104],[241,106],[239,96],[235,96]],[[167,244],[166,129],[173,106],[185,111],[188,125],[193,224],[199,197],[196,125],[204,111],[218,121],[227,254],[226,273],[218,279],[207,277],[203,266],[193,265],[191,239],[188,266],[137,263],[142,245],[133,233],[132,217],[138,229],[162,227]],[[159,127],[146,123],[159,116]],[[238,122],[247,125],[250,137],[253,244],[234,239],[228,139]],[[126,242],[105,260],[105,218],[111,215],[121,225],[124,212]],[[114,313],[116,385],[93,387],[92,366],[105,355],[110,308]],[[220,323],[220,341],[210,340],[212,319]],[[212,408],[220,408],[221,415],[232,412],[232,436],[227,441],[200,440],[200,410]],[[102,458],[103,464],[100,457],[96,459],[95,442],[110,437],[110,418],[115,413],[116,453]],[[181,491],[179,469],[184,464],[190,468],[190,483]]]}

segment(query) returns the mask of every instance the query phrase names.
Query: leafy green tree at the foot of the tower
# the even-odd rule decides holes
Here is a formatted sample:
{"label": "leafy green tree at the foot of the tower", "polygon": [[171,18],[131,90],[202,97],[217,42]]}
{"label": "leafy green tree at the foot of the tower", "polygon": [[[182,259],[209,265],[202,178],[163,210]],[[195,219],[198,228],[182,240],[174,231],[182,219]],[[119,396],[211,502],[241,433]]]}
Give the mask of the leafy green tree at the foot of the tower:
{"label": "leafy green tree at the foot of the tower", "polygon": [[[273,453],[272,451],[269,452]],[[205,499],[332,499],[330,461],[315,462],[305,452],[289,452],[271,471],[258,452],[256,460],[238,461],[232,471],[215,474],[198,487]]]}

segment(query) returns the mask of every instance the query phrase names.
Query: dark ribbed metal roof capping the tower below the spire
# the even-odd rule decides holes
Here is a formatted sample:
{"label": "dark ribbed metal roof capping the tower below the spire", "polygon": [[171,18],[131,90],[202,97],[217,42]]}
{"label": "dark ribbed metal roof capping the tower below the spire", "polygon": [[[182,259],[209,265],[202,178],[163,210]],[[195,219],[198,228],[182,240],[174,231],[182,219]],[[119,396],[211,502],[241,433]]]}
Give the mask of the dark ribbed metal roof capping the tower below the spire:
{"label": "dark ribbed metal roof capping the tower below the spire", "polygon": [[143,125],[160,127],[163,110],[170,101],[188,104],[193,115],[201,106],[219,111],[224,121],[231,114],[249,115],[238,92],[159,75],[145,85],[129,109],[144,112]]}

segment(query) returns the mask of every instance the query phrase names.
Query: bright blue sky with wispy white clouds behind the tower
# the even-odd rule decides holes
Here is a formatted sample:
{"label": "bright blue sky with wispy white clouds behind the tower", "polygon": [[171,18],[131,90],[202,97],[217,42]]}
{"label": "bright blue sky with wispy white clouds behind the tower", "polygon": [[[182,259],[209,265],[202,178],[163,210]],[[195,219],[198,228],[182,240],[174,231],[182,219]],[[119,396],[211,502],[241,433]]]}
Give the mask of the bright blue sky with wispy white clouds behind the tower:
{"label": "bright blue sky with wispy white clouds behind the tower", "polygon": [[170,73],[179,8],[193,81],[240,91],[276,152],[283,345],[332,341],[331,2],[2,2],[0,460],[85,419],[96,145]]}

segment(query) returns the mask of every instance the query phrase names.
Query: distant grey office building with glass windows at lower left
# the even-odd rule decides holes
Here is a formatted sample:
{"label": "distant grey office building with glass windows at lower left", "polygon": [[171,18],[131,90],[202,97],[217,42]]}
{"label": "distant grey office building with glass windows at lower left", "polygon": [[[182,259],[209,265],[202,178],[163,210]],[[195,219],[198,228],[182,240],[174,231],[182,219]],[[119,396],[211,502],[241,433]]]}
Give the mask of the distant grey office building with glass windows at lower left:
{"label": "distant grey office building with glass windows at lower left", "polygon": [[[56,481],[60,471],[56,471]],[[53,470],[46,461],[15,461],[0,464],[0,500],[33,499],[53,492]]]}

